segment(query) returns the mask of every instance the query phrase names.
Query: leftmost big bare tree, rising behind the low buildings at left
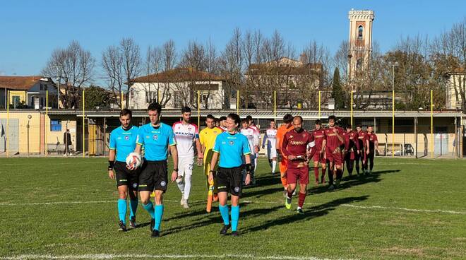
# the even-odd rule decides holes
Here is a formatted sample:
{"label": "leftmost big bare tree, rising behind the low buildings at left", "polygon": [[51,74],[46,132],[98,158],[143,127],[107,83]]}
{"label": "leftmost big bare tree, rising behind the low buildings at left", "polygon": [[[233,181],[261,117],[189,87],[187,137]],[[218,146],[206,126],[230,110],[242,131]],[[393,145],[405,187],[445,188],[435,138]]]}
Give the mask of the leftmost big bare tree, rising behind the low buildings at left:
{"label": "leftmost big bare tree, rising behind the low buildings at left", "polygon": [[94,76],[95,59],[79,42],[73,40],[65,49],[57,48],[42,69],[46,76],[56,76],[64,89],[60,100],[64,108],[76,108],[80,100],[80,90],[91,83]]}

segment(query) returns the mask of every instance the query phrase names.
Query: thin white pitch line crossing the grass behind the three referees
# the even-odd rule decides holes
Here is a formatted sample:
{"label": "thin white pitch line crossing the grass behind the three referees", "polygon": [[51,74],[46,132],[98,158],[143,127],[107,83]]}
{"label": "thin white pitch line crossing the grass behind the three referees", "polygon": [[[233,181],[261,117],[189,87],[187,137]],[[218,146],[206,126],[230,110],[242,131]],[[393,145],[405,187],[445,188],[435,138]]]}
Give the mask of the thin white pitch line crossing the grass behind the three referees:
{"label": "thin white pitch line crossing the grass behind the three referees", "polygon": [[[178,202],[176,200],[168,200],[165,199],[164,201],[167,202]],[[60,205],[60,204],[93,204],[93,203],[115,203],[117,201],[52,201],[52,202],[35,202],[35,203],[9,203],[9,202],[0,202],[0,206],[49,206],[49,205]],[[199,203],[204,201],[192,201],[193,203]],[[273,205],[280,205],[282,202],[275,202],[275,201],[241,201],[244,203],[253,203],[253,204],[273,204]],[[307,203],[307,205],[313,204],[318,205],[318,203]],[[382,210],[395,210],[395,211],[411,211],[411,212],[422,212],[422,213],[448,213],[448,214],[455,214],[455,215],[466,215],[465,211],[447,211],[441,209],[419,209],[419,208],[398,208],[398,207],[386,207],[386,206],[359,206],[354,204],[341,204],[339,206],[349,207],[349,208],[376,208]]]}

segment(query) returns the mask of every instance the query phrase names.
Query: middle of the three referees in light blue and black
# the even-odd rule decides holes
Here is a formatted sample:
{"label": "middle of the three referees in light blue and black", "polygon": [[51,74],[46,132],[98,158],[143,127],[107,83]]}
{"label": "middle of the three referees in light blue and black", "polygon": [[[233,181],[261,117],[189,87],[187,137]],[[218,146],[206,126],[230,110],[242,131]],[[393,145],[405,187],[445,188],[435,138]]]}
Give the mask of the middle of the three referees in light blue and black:
{"label": "middle of the three referees in light blue and black", "polygon": [[[160,236],[160,223],[163,215],[163,194],[167,191],[167,154],[168,148],[172,153],[174,169],[172,182],[178,177],[178,151],[172,126],[160,122],[162,106],[153,102],[148,107],[150,123],[139,128],[136,140],[136,153],[141,153],[144,146],[144,162],[139,175],[139,196],[143,208],[151,216],[151,237]],[[155,193],[155,206],[150,201],[150,193]]]}

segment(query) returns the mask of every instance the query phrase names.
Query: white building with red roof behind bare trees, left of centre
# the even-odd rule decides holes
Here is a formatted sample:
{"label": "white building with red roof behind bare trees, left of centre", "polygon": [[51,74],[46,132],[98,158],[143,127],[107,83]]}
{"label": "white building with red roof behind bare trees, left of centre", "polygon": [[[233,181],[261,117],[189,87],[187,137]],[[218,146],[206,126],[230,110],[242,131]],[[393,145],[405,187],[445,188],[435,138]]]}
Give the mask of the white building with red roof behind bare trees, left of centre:
{"label": "white building with red roof behind bare trees, left of centre", "polygon": [[221,109],[228,105],[225,79],[192,68],[177,68],[162,73],[134,78],[129,91],[129,108],[146,109],[151,102],[165,108],[197,107]]}

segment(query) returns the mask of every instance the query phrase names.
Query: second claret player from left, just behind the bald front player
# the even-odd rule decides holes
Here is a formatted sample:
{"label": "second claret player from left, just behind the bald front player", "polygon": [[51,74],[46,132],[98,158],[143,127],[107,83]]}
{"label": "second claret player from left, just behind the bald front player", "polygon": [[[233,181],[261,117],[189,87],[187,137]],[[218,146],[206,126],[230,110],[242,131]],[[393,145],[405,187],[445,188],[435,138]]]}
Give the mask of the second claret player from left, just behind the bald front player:
{"label": "second claret player from left, just behind the bald front player", "polygon": [[325,131],[322,129],[321,120],[316,120],[316,129],[311,131],[311,136],[314,140],[313,155],[312,160],[314,163],[314,177],[316,178],[316,184],[319,183],[318,180],[318,164],[321,164],[322,175],[321,175],[321,184],[325,183],[325,170],[326,170],[326,157],[325,157],[325,147],[323,146],[323,141],[325,140]]}

